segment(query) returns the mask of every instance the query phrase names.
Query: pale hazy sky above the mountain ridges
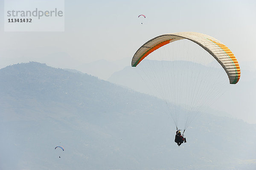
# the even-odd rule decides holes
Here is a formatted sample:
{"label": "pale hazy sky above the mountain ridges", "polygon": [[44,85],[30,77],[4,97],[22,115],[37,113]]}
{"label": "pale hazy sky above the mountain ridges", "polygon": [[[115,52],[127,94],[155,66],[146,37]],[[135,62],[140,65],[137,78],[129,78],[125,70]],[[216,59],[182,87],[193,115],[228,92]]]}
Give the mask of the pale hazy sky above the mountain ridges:
{"label": "pale hazy sky above the mountain ridges", "polygon": [[[147,40],[183,31],[215,37],[238,61],[255,61],[255,9],[254,0],[65,0],[64,32],[4,32],[0,24],[0,68],[38,61],[76,69],[99,59],[132,58]],[[143,24],[139,14],[146,15]]]}

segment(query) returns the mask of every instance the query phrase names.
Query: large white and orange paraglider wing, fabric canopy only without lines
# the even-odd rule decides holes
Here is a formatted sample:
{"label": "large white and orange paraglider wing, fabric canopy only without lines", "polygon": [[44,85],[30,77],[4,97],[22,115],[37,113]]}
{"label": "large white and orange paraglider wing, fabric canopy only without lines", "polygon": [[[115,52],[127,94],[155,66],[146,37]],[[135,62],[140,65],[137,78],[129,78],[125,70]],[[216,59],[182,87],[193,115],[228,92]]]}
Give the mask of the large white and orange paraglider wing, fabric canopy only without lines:
{"label": "large white and orange paraglider wing, fabric canopy only without lines", "polygon": [[226,71],[230,84],[236,84],[239,81],[239,63],[230,49],[219,40],[198,32],[177,32],[154,37],[137,50],[132,58],[131,66],[136,67],[146,56],[159,49],[161,46],[182,39],[191,40],[209,52]]}

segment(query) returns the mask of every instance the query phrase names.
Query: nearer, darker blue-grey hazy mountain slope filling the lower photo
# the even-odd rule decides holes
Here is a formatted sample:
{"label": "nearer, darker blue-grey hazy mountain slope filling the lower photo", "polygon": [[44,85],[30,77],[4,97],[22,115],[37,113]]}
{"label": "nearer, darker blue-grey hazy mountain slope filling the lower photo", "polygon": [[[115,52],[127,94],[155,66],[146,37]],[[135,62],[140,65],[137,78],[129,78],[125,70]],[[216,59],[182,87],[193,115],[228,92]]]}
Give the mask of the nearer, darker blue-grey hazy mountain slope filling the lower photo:
{"label": "nearer, darker blue-grey hazy mountain slope filling the lower photo", "polygon": [[201,113],[177,147],[163,108],[157,98],[41,63],[0,69],[0,170],[256,167],[255,126]]}

